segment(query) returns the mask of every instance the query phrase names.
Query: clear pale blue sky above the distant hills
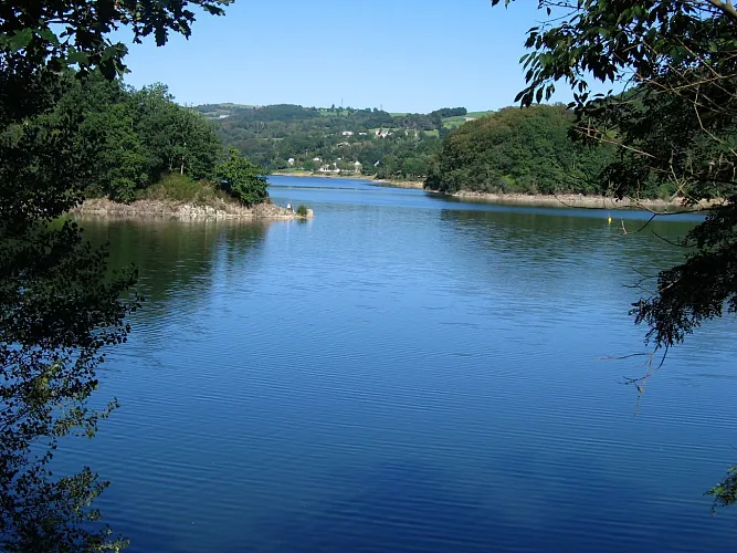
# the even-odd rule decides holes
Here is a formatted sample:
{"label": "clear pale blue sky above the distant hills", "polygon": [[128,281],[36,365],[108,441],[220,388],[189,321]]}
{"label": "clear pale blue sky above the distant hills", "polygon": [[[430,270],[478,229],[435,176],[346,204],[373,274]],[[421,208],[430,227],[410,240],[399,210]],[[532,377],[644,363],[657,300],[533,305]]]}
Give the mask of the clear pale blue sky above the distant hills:
{"label": "clear pale blue sky above the distant hills", "polygon": [[543,15],[536,6],[236,0],[223,18],[200,15],[189,41],[130,45],[126,81],[162,82],[186,104],[497,109],[524,86],[518,61],[527,29]]}

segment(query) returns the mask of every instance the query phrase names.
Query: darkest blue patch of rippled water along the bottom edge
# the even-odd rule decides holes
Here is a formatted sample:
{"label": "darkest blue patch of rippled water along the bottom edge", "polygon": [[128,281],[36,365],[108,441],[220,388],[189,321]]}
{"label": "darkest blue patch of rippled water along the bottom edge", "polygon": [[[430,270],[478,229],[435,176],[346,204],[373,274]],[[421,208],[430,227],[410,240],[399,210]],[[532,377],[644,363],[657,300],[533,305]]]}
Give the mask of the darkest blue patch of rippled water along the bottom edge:
{"label": "darkest blue patch of rippled water along the bottom edge", "polygon": [[[517,460],[520,465],[514,463]],[[569,460],[577,461],[573,455]],[[291,553],[677,549],[676,540],[662,534],[672,509],[650,505],[649,528],[627,528],[629,513],[612,503],[636,501],[638,489],[622,486],[598,467],[580,467],[578,476],[558,481],[538,481],[531,497],[526,492],[526,508],[520,510],[517,495],[536,479],[536,462],[528,456],[510,456],[507,461],[503,470],[475,474],[473,490],[459,488],[465,474],[418,458],[368,469],[359,478],[355,471],[338,470],[334,483],[340,493],[296,507],[288,515],[254,513],[240,532],[228,532],[211,546]],[[596,484],[581,488],[579,479]]]}

